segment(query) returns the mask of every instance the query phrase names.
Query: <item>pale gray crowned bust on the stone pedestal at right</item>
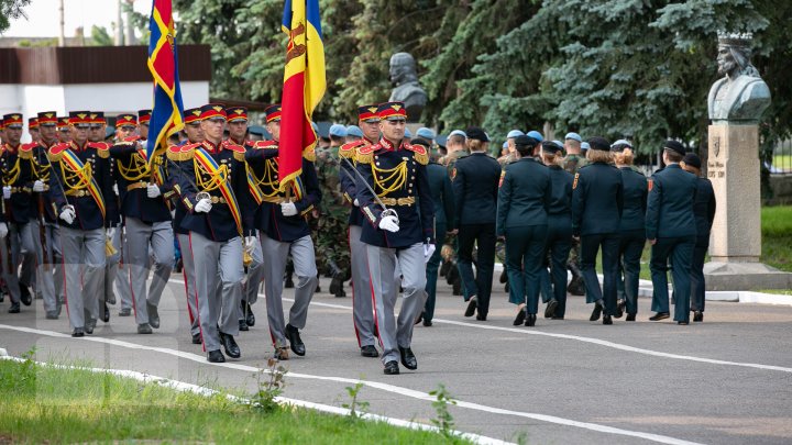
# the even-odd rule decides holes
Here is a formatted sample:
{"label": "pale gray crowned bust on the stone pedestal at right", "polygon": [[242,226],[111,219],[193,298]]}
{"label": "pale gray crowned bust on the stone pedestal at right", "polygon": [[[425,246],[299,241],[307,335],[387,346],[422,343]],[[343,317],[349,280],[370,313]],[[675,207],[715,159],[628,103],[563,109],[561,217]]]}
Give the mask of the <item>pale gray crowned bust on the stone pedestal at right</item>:
{"label": "pale gray crowned bust on the stone pedestal at right", "polygon": [[718,74],[707,109],[713,123],[756,123],[770,104],[770,89],[750,63],[749,34],[718,33]]}

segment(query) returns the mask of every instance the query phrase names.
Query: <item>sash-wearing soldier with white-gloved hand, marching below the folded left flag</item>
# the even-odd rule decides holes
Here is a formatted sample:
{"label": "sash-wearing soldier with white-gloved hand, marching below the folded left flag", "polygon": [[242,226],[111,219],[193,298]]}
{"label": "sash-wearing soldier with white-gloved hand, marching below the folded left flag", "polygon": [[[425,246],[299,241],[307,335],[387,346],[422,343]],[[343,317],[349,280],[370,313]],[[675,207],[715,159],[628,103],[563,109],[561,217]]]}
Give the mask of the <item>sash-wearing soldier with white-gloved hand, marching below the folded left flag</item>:
{"label": "sash-wearing soldier with white-gloved hand, marching below the folded left flag", "polygon": [[204,142],[168,148],[168,157],[179,168],[177,191],[187,207],[182,226],[189,231],[200,329],[210,363],[226,361],[221,345],[231,358],[242,355],[234,336],[244,275],[242,236],[252,222],[246,215],[244,148],[222,144],[224,127],[226,109],[204,105]]}

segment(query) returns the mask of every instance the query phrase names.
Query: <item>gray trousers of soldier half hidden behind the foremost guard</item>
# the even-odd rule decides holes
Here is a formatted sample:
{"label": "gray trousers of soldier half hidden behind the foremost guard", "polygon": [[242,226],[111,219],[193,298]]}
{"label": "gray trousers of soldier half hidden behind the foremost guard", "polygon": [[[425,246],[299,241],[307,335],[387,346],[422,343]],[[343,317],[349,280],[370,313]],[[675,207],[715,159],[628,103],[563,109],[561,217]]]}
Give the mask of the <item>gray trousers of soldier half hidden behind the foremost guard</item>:
{"label": "gray trousers of soldier half hidden behind the foremost guard", "polygon": [[350,225],[350,254],[352,262],[352,319],[354,320],[358,346],[373,346],[374,337],[374,307],[369,277],[369,254],[366,244],[360,241],[362,229],[360,225]]}

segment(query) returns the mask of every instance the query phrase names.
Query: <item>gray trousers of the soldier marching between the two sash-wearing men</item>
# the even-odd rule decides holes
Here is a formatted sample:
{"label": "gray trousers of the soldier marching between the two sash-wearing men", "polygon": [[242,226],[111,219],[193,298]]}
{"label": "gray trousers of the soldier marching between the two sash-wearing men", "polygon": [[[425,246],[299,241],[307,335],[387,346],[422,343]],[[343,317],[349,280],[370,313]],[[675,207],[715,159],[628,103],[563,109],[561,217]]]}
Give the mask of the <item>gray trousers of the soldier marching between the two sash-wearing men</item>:
{"label": "gray trousers of the soldier marching between the two sash-wearing men", "polygon": [[[127,218],[127,251],[129,280],[132,285],[132,298],[135,309],[135,322],[148,323],[147,304],[160,305],[160,298],[170,278],[173,270],[174,245],[173,224],[170,221],[161,221],[152,224],[142,222],[136,218]],[[148,279],[150,255],[148,246],[154,254],[154,277],[151,288],[146,292]]]}

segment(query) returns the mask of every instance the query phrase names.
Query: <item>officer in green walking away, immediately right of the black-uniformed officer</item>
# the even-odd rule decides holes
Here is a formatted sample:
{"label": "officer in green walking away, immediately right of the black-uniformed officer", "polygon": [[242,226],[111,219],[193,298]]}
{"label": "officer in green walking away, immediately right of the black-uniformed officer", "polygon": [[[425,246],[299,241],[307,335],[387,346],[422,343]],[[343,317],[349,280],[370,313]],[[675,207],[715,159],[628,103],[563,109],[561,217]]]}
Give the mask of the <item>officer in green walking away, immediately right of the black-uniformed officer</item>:
{"label": "officer in green walking away, immediately right of the black-uniformed officer", "polygon": [[552,183],[548,168],[535,158],[539,141],[518,136],[515,145],[520,158],[502,173],[495,232],[508,243],[509,301],[526,304],[525,324],[534,326]]}

